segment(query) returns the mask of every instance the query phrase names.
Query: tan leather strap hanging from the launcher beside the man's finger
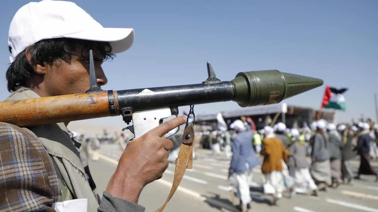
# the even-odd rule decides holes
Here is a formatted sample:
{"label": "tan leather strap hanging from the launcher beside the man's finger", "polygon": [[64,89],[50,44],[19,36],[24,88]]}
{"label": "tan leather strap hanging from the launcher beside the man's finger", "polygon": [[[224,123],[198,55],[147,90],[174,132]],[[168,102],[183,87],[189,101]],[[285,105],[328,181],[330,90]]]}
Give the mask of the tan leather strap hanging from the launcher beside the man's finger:
{"label": "tan leather strap hanging from the launcher beside the man's finger", "polygon": [[170,189],[166,202],[155,212],[162,212],[164,210],[169,200],[175,194],[175,191],[184,176],[185,169],[192,168],[194,140],[194,129],[193,124],[191,124],[184,129],[183,142],[181,143],[180,152],[178,152],[178,157],[176,158],[175,176],[173,178],[172,188]]}

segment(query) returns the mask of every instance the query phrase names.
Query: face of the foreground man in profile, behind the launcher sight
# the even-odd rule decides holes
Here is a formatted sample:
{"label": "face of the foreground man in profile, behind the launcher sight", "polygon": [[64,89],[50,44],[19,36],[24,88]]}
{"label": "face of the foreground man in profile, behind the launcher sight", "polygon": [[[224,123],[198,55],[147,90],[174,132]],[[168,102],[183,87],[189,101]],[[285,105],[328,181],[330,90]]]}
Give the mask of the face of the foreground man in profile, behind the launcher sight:
{"label": "face of the foreground man in profile, behind the launcher sight", "polygon": [[[82,94],[89,89],[89,51],[84,55],[77,47],[76,53],[71,57],[70,62],[63,60],[54,61],[52,65],[46,65],[46,74],[43,77],[43,84],[51,96],[65,94]],[[84,56],[84,57],[83,57]],[[98,86],[105,85],[107,78],[101,68],[102,58],[97,51],[93,51]]]}

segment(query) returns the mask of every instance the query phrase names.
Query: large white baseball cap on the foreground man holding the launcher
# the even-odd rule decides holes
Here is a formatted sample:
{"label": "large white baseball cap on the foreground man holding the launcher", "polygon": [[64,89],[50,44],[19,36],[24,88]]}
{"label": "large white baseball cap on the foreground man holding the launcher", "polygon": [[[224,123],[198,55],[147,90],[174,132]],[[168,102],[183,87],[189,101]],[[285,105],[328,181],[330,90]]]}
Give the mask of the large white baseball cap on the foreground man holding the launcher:
{"label": "large white baseball cap on the foreground man holding the launcher", "polygon": [[104,28],[73,2],[43,0],[22,6],[9,26],[11,62],[28,46],[48,38],[108,41],[112,53],[126,51],[134,41],[131,28]]}

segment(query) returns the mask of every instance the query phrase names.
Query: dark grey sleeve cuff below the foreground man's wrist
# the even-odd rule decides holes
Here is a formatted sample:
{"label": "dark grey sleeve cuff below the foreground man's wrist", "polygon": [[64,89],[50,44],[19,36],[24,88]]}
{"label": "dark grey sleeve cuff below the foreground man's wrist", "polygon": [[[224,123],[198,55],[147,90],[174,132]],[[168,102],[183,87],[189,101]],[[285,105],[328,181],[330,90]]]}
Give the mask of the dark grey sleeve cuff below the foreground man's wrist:
{"label": "dark grey sleeve cuff below the foreground man's wrist", "polygon": [[104,191],[98,212],[144,212],[146,208],[130,201],[113,197]]}

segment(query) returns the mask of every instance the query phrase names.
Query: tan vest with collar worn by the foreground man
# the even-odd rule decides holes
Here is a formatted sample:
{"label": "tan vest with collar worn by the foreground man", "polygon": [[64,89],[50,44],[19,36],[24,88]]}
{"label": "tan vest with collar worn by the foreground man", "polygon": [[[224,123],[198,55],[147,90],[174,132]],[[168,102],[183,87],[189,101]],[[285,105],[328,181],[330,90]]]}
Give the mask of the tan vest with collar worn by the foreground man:
{"label": "tan vest with collar worn by the foreground man", "polygon": [[[6,101],[39,97],[32,89],[19,87]],[[63,194],[62,200],[69,200],[71,195],[77,199],[87,198],[88,211],[97,211],[99,206],[98,195],[92,191],[88,183],[79,152],[74,146],[65,124],[43,124],[29,127],[29,129],[37,135],[60,171],[64,180],[64,182],[59,183]],[[68,188],[69,192],[65,192],[65,187]]]}

